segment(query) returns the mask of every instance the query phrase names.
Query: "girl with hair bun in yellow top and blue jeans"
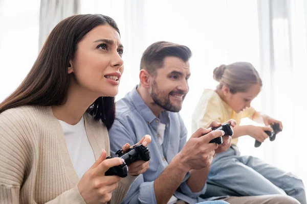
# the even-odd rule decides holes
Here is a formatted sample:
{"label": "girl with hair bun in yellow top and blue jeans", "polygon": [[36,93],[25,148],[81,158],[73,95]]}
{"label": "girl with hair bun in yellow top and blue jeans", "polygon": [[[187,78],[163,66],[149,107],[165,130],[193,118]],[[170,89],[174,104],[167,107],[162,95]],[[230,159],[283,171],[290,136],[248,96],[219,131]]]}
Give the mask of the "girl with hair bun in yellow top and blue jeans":
{"label": "girl with hair bun in yellow top and blue jeans", "polygon": [[262,86],[256,69],[247,62],[221,65],[214,69],[213,78],[220,84],[216,90],[204,90],[192,115],[192,132],[199,127],[207,127],[212,120],[223,123],[235,119],[237,124],[233,129],[231,147],[215,155],[208,179],[243,196],[288,194],[305,204],[306,196],[301,180],[258,158],[240,156],[236,146],[240,136],[249,135],[264,142],[268,138],[265,131],[272,131],[269,126],[240,126],[240,120],[244,117],[263,121],[266,125],[278,123],[282,129],[280,121],[261,115],[250,107]]}

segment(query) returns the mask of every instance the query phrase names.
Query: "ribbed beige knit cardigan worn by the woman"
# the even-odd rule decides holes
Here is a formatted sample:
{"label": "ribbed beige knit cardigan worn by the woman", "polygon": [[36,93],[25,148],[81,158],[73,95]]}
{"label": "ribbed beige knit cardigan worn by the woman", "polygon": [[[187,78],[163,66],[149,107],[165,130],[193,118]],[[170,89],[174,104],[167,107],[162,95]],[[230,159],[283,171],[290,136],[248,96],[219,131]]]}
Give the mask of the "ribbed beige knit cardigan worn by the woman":
{"label": "ribbed beige knit cardigan worn by the woman", "polygon": [[[105,125],[84,114],[87,137],[97,160],[110,154]],[[110,203],[120,203],[134,176],[121,180]],[[51,107],[23,106],[0,114],[0,203],[82,203],[79,179],[62,127]]]}

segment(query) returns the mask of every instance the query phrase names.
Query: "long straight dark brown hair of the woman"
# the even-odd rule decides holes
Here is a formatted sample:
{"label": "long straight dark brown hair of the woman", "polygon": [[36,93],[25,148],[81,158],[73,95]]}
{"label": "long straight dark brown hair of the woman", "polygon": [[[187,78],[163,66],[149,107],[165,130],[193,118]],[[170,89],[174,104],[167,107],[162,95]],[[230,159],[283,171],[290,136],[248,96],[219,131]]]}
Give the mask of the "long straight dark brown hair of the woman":
{"label": "long straight dark brown hair of the woman", "polygon": [[[116,22],[100,14],[75,15],[59,22],[47,38],[27,77],[0,104],[0,114],[25,105],[64,104],[70,80],[67,68],[75,56],[78,42],[92,29],[104,24],[111,25],[119,33]],[[115,98],[99,97],[87,112],[95,119],[101,119],[109,129],[115,119]]]}

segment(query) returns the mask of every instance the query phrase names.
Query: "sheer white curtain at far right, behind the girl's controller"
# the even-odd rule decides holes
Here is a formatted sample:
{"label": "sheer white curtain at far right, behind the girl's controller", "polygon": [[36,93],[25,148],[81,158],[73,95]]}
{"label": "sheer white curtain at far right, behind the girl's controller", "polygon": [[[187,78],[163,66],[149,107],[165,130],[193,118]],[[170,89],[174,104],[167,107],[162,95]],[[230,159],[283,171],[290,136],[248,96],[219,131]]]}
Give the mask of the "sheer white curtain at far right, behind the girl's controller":
{"label": "sheer white curtain at far right, behind the girl's controller", "polygon": [[[307,74],[306,1],[258,0],[261,109],[283,131],[253,154],[307,182],[304,84]],[[262,150],[262,151],[260,151]],[[251,152],[245,148],[245,152]]]}

